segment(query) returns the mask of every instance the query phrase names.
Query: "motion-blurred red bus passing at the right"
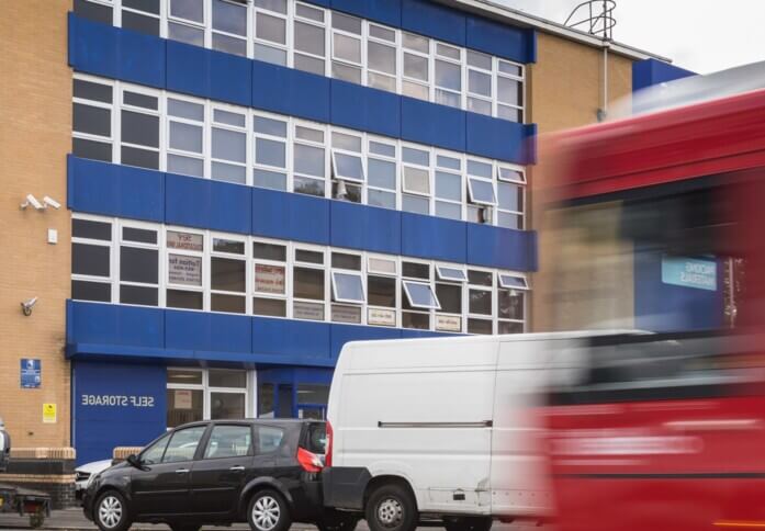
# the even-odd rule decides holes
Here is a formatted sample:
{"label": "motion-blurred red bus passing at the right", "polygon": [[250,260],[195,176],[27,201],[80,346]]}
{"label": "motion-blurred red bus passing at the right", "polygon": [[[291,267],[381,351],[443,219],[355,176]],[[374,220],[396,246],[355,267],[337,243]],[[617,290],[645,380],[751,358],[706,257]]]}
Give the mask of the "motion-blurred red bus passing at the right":
{"label": "motion-blurred red bus passing at the right", "polygon": [[765,90],[545,145],[556,529],[765,529]]}

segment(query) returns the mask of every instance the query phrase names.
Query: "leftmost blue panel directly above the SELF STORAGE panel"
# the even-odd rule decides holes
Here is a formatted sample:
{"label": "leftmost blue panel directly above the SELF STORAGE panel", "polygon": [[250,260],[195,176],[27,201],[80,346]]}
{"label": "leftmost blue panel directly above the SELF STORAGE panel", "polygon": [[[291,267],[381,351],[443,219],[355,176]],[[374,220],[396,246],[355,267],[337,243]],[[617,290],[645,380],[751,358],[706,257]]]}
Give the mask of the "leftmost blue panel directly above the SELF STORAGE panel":
{"label": "leftmost blue panel directly above the SELF STORAGE panel", "polygon": [[164,310],[67,301],[67,344],[90,343],[161,349]]}

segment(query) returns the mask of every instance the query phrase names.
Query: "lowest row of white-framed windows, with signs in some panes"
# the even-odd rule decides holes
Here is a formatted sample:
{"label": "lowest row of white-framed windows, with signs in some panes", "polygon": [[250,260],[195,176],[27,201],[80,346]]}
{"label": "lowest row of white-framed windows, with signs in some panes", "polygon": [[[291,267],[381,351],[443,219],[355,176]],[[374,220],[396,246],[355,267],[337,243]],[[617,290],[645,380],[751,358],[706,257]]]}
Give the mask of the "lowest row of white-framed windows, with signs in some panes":
{"label": "lowest row of white-framed windows, with signs in some panes", "polygon": [[524,331],[521,273],[79,214],[71,246],[71,296],[80,301]]}

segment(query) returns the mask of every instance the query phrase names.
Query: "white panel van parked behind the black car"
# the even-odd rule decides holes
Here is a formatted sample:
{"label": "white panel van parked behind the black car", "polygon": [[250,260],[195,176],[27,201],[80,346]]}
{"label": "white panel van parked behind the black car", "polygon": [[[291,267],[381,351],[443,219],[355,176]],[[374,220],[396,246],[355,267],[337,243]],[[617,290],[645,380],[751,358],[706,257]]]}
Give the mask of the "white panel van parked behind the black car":
{"label": "white panel van parked behind the black car", "polygon": [[347,343],[329,392],[325,505],[363,512],[372,531],[548,517],[532,408],[549,342],[573,336]]}

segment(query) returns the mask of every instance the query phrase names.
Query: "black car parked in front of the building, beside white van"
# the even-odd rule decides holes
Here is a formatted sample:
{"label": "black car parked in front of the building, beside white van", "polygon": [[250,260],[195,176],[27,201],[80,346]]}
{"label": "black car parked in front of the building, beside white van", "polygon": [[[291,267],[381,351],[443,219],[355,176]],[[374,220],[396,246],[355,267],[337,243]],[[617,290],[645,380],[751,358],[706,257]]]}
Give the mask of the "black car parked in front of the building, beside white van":
{"label": "black car parked in front of the building, beside white van", "polygon": [[103,531],[133,522],[195,531],[244,521],[254,531],[285,531],[292,521],[346,531],[356,518],[323,508],[325,441],[325,423],[312,420],[183,425],[97,475],[83,495],[85,513]]}

